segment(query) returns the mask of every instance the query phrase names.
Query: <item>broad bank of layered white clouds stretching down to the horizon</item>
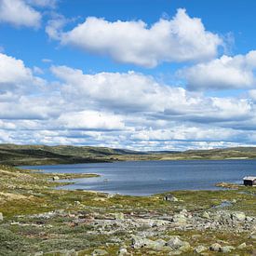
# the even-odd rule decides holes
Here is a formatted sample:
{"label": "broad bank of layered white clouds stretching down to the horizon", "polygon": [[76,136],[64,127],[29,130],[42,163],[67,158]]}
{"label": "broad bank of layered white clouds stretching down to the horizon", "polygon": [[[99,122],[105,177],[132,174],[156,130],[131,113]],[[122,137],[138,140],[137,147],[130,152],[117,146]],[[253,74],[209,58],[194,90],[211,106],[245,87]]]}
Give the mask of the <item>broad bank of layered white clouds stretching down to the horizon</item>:
{"label": "broad bank of layered white clouds stretching down to the horizon", "polygon": [[256,141],[249,95],[206,97],[144,74],[67,66],[52,66],[49,82],[6,54],[0,67],[0,142],[184,150]]}

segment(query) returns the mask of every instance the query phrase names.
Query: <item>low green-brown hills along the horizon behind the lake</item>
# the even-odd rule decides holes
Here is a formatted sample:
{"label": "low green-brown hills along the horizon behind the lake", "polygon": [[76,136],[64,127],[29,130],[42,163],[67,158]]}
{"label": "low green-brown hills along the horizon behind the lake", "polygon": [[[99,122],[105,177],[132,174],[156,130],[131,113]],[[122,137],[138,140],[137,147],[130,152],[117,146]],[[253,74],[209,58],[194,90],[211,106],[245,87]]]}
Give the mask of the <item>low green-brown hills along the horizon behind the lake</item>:
{"label": "low green-brown hills along the horizon behind the lake", "polygon": [[127,160],[256,159],[256,147],[211,150],[149,151],[90,146],[0,144],[0,164],[51,165]]}

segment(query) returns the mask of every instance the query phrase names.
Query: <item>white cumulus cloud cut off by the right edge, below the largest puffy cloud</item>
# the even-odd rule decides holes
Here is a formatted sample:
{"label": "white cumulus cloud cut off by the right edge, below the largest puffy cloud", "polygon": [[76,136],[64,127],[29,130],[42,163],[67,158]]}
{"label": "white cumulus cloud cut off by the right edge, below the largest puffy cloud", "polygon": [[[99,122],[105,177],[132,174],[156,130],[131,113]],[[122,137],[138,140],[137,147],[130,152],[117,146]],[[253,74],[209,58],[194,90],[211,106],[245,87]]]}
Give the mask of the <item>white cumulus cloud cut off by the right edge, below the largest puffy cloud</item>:
{"label": "white cumulus cloud cut off by the right edge, below the largest puffy cloud", "polygon": [[229,57],[198,63],[184,69],[182,76],[187,79],[190,89],[231,89],[252,88],[256,85],[256,51],[247,55]]}

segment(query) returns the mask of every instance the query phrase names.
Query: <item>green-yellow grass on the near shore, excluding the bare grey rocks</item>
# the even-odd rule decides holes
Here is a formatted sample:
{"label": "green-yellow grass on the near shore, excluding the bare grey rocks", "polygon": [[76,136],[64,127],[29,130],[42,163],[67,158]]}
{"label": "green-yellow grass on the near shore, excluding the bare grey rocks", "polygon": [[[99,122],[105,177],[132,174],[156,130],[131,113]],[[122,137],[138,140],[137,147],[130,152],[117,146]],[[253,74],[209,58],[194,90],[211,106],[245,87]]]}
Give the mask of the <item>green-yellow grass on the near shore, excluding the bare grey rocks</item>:
{"label": "green-yellow grass on the near shore, excluding the bare grey rocks", "polygon": [[[109,218],[115,212],[132,214],[132,216],[144,214],[170,216],[182,209],[194,213],[204,210],[214,211],[213,207],[220,205],[222,201],[236,199],[236,204],[228,209],[244,211],[249,216],[256,216],[254,187],[220,191],[176,191],[171,194],[179,200],[168,202],[164,201],[163,195],[160,194],[109,196],[102,193],[55,190],[54,187],[62,183],[53,182],[52,176],[53,174],[33,170],[0,166],[0,212],[5,218],[4,222],[0,222],[0,255],[34,255],[36,251],[44,251],[44,255],[58,255],[57,252],[54,254],[50,251],[61,249],[75,249],[79,251],[78,255],[91,255],[94,249],[106,249],[110,255],[115,255],[119,247],[113,242],[114,236],[129,245],[127,230],[116,229],[115,235],[95,233],[95,226],[89,222],[91,215],[98,216],[99,219]],[[58,176],[61,179],[94,177],[93,174],[58,174]],[[64,213],[53,215],[51,218],[34,216],[53,210],[62,210]],[[79,220],[88,221],[80,223]],[[110,227],[110,231],[112,230],[113,228]],[[201,244],[209,246],[218,240],[237,247],[246,241],[248,248],[236,250],[238,255],[249,255],[256,246],[254,240],[248,239],[247,233],[208,230],[201,234],[196,230],[168,230],[164,235],[181,236],[184,240],[192,242],[194,247]],[[145,249],[136,250],[129,247],[128,250],[133,255],[147,254]],[[158,251],[154,255],[166,254]],[[194,255],[194,252],[191,250],[182,255]],[[209,252],[209,255],[214,254]]]}

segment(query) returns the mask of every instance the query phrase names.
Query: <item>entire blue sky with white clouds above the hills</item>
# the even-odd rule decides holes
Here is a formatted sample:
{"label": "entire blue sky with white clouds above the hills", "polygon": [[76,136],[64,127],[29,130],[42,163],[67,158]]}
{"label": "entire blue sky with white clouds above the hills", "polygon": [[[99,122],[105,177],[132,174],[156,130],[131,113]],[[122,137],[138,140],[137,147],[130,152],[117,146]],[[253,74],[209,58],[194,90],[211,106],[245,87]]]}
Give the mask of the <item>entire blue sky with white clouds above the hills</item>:
{"label": "entire blue sky with white clouds above the hills", "polygon": [[256,1],[0,0],[0,143],[254,146]]}

